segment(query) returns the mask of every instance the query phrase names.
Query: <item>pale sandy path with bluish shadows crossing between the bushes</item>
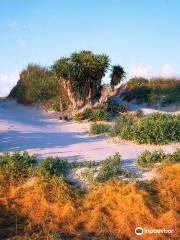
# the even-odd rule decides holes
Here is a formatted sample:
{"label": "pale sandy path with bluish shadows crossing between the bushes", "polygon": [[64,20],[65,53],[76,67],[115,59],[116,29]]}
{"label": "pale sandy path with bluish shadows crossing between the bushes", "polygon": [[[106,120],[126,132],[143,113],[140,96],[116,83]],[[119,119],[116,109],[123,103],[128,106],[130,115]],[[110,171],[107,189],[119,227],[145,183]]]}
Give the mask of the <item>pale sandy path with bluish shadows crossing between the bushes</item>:
{"label": "pale sandy path with bluish shadows crossing between the bushes", "polygon": [[[179,144],[162,146],[172,152]],[[87,124],[60,122],[55,114],[42,112],[37,107],[25,107],[12,100],[0,100],[0,153],[28,151],[39,158],[66,157],[71,160],[102,160],[119,152],[123,166],[138,170],[133,160],[144,150],[155,146],[129,142],[113,143],[102,136],[89,136]]]}

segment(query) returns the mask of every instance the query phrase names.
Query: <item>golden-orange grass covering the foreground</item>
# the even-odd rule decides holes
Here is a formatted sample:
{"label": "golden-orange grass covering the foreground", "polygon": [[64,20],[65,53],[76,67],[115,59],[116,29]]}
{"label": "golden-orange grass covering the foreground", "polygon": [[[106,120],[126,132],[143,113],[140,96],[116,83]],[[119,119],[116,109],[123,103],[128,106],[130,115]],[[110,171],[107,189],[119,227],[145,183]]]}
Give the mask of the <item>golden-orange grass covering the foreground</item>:
{"label": "golden-orange grass covering the foreground", "polygon": [[[16,214],[18,219],[28,220],[18,230],[17,239],[26,239],[25,233],[32,233],[35,227],[44,236],[58,231],[75,234],[77,239],[178,239],[180,164],[162,165],[158,171],[161,176],[149,183],[110,181],[84,194],[74,194],[75,190],[66,183],[62,183],[59,193],[57,188],[42,187],[39,181],[19,186],[11,190],[8,198],[1,198],[0,222],[4,224],[6,217],[11,223],[3,231],[8,235],[10,228],[12,234],[12,218]],[[137,226],[174,232],[139,238],[134,233]]]}

